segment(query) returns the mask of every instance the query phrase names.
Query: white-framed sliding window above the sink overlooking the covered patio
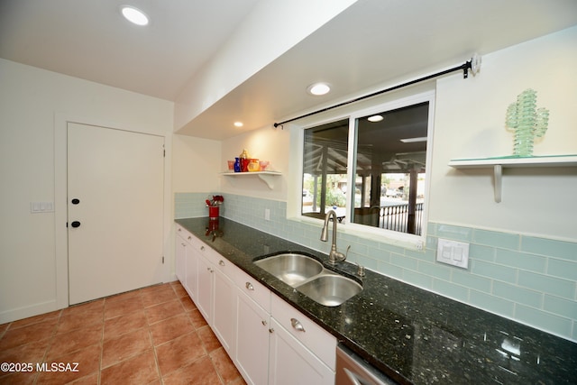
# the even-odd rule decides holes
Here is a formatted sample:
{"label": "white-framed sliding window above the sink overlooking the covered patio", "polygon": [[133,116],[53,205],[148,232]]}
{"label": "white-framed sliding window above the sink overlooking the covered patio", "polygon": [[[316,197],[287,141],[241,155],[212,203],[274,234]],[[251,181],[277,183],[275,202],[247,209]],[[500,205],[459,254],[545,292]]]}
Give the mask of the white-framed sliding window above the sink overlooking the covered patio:
{"label": "white-framed sliding window above the sink overlooking the covered patio", "polygon": [[426,94],[305,129],[301,215],[424,235],[432,104]]}

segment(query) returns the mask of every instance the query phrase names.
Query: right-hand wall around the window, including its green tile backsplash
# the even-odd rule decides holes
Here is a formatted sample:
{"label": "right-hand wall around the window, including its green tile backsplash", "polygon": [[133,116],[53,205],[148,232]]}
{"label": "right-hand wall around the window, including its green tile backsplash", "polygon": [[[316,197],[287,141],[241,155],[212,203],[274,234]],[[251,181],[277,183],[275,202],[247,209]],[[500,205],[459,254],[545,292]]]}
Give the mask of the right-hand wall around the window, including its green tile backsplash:
{"label": "right-hand wall around the window, including its green tile backsplash", "polygon": [[[577,60],[575,47],[577,27],[485,54],[481,73],[474,78],[463,79],[460,72],[438,79],[427,247],[418,252],[398,247],[384,237],[367,242],[364,235],[341,227],[338,243],[353,245],[353,261],[444,297],[577,341],[577,169],[506,170],[503,201],[495,203],[491,170],[463,171],[447,166],[453,158],[511,154],[512,134],[504,128],[505,112],[528,87],[537,90],[537,105],[551,111],[549,130],[536,144],[536,155],[577,154],[577,67],[572,65]],[[406,96],[408,91],[387,97]],[[331,114],[340,113],[334,110]],[[317,115],[317,124],[329,115]],[[313,124],[311,119],[306,123]],[[222,161],[242,144],[264,142],[267,134],[263,128],[240,140],[224,141],[223,149],[227,150]],[[279,154],[278,165],[283,169],[301,161],[289,156],[295,149],[288,153],[287,146],[287,142],[275,141],[267,148]],[[283,179],[287,178],[285,174]],[[299,176],[294,178],[298,180]],[[326,244],[318,241],[321,224],[287,220],[287,211],[292,208],[289,195],[295,188],[287,189],[286,195],[273,192],[279,202],[260,199],[264,195],[251,188],[226,189],[238,195],[259,194],[256,199],[229,197],[237,206],[251,206],[250,211],[227,212],[229,217],[327,252]],[[289,203],[285,205],[282,200]],[[274,214],[270,222],[262,217],[268,207],[273,207]],[[435,261],[438,238],[471,244],[468,270]]]}

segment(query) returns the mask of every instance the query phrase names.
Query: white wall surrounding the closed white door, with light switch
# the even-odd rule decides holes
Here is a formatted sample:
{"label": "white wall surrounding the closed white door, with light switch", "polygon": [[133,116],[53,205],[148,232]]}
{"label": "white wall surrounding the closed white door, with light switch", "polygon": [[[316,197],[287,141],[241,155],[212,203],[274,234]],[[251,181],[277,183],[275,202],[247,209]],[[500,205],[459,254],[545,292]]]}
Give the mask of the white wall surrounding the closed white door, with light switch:
{"label": "white wall surrounding the closed white door, with light switch", "polygon": [[[58,224],[55,220],[66,218],[66,205],[56,202],[57,191],[61,194],[56,174],[62,170],[56,170],[55,163],[60,167],[66,157],[61,153],[65,143],[62,147],[59,142],[61,119],[74,116],[86,123],[164,135],[169,152],[174,106],[8,60],[0,60],[0,84],[1,324],[53,310],[62,296],[68,302],[61,277],[57,280],[57,261],[62,261],[62,255],[56,251],[56,226],[64,226],[65,220]],[[165,186],[170,202],[167,159]],[[31,214],[32,201],[54,202],[56,211]],[[170,214],[169,210],[167,224]],[[168,244],[169,234],[165,236]]]}

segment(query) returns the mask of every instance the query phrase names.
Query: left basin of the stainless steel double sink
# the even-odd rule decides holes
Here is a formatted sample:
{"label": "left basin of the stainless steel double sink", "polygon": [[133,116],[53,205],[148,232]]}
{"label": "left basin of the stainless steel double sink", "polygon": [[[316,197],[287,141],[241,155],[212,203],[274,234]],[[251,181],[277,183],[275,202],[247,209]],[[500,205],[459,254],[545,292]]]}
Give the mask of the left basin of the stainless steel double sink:
{"label": "left basin of the stainless steel double sink", "polygon": [[273,255],[263,260],[254,261],[254,264],[293,288],[323,271],[322,263],[296,252]]}

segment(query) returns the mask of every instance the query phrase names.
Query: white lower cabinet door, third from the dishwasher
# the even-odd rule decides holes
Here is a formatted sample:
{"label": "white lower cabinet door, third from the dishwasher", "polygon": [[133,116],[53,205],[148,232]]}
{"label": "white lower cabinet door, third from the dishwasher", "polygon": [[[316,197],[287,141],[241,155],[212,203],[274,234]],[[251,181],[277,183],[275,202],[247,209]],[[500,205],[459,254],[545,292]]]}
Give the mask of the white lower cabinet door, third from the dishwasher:
{"label": "white lower cabinet door, third from the dishwasher", "polygon": [[234,348],[234,316],[236,313],[236,287],[233,280],[229,279],[224,272],[215,270],[215,288],[212,327],[216,337],[221,342],[224,350],[232,355]]}

